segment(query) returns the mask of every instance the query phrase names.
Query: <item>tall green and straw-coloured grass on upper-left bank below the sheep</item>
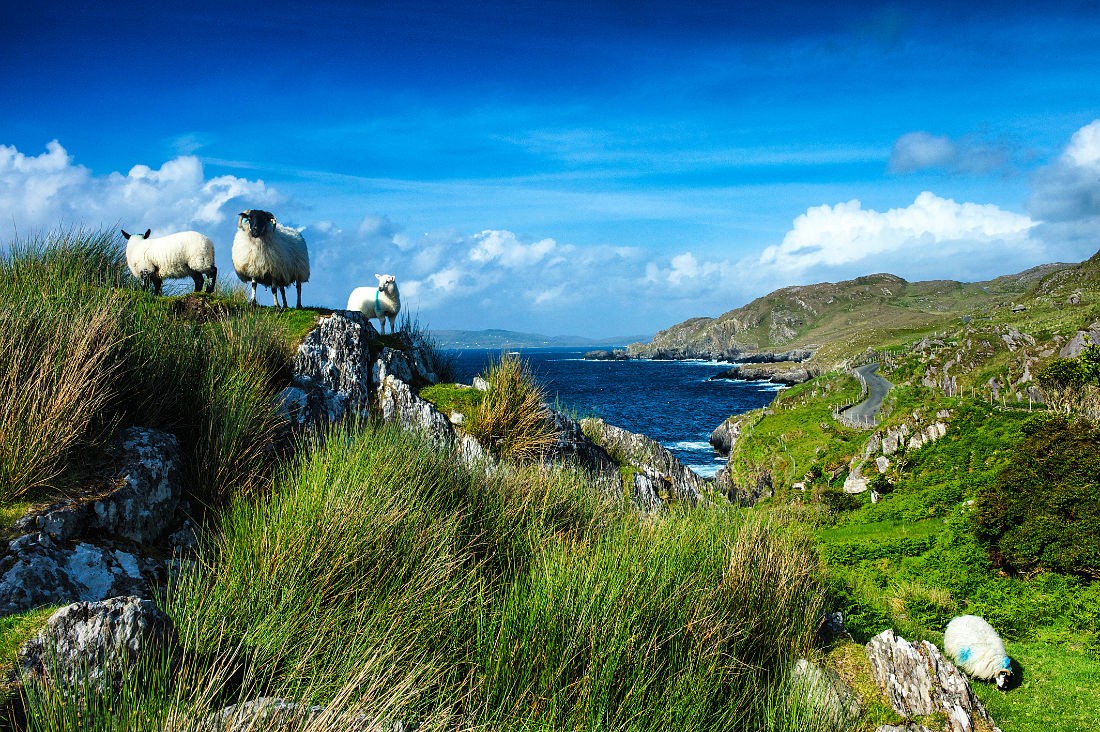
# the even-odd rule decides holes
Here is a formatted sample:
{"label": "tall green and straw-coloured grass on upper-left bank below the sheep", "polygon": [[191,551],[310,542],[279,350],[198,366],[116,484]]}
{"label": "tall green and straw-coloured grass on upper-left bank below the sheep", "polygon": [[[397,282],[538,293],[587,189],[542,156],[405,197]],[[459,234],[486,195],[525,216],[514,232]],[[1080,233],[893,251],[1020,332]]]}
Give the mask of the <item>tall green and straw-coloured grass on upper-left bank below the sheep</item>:
{"label": "tall green and straw-coloured grass on upper-left bank below the sheep", "polygon": [[9,248],[0,353],[0,502],[70,490],[79,471],[67,468],[95,462],[85,452],[127,425],[176,434],[205,503],[267,482],[287,334],[235,301],[139,292],[112,234],[70,230]]}

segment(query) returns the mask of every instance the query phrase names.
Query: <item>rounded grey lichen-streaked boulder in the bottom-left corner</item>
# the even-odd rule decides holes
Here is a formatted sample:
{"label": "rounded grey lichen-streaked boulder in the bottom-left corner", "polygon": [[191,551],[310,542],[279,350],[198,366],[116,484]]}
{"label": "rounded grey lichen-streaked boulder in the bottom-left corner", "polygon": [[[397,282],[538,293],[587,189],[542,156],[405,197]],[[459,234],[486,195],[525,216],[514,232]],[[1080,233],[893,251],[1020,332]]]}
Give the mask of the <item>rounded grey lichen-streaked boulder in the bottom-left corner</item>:
{"label": "rounded grey lichen-streaked boulder in the bottom-left corner", "polygon": [[118,689],[152,654],[178,653],[176,629],[150,600],[118,597],[75,602],[46,621],[19,652],[25,676],[65,689]]}

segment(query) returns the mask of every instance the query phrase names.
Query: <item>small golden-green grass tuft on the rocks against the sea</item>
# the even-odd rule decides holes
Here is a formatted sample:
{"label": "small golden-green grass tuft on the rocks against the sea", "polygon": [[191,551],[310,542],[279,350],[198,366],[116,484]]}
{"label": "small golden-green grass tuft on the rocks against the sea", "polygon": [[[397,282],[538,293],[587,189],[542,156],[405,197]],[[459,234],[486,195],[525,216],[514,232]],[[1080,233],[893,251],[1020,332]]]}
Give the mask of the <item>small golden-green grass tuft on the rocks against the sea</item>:
{"label": "small golden-green grass tuft on the rocks against the sea", "polygon": [[516,354],[504,353],[485,372],[488,390],[477,401],[463,429],[497,457],[537,460],[554,441],[546,394],[530,367]]}

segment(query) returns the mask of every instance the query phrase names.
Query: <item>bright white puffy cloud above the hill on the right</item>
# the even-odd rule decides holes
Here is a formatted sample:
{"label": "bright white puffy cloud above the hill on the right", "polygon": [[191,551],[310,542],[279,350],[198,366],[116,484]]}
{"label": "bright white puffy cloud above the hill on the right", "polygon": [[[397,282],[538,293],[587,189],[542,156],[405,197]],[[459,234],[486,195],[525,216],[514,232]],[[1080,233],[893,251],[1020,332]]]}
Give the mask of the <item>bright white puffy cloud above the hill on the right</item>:
{"label": "bright white puffy cloud above the hill on the right", "polygon": [[1033,256],[1041,248],[1028,236],[1034,226],[1030,217],[991,204],[958,204],[928,192],[905,208],[887,211],[850,200],[807,209],[781,243],[763,250],[758,264],[801,280],[814,273],[867,273],[881,265],[912,278],[928,274],[922,265],[938,263],[941,274],[931,276],[977,278],[971,272],[983,271],[985,264],[1011,266],[1015,259]]}

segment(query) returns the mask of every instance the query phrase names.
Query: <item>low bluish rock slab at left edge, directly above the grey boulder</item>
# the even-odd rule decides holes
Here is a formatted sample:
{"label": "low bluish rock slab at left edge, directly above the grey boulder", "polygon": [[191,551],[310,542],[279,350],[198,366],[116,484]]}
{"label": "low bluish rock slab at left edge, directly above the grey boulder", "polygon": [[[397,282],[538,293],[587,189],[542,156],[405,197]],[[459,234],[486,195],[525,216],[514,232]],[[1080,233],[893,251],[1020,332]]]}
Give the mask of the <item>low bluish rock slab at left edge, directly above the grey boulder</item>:
{"label": "low bluish rock slab at left edge, directly above the grey boulder", "polygon": [[95,602],[120,594],[147,594],[157,562],[118,548],[80,542],[57,544],[26,534],[0,559],[0,615],[59,602]]}

